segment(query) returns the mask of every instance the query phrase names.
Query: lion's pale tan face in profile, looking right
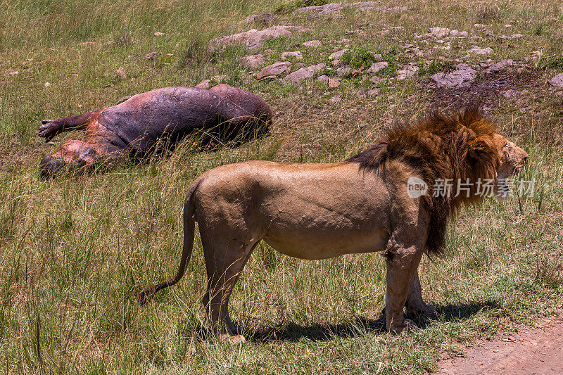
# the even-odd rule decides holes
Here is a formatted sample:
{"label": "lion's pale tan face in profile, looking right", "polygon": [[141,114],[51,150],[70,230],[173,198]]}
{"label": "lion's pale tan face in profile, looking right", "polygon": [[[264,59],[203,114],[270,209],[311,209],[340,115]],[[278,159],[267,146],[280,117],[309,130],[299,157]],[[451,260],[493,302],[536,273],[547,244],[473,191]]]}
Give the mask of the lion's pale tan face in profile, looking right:
{"label": "lion's pale tan face in profile, looking right", "polygon": [[508,191],[507,179],[519,174],[524,169],[528,153],[500,134],[495,134],[493,141],[500,159],[500,167],[497,170],[497,182],[495,184],[495,196],[499,201],[504,201],[508,197],[507,193],[503,193]]}

